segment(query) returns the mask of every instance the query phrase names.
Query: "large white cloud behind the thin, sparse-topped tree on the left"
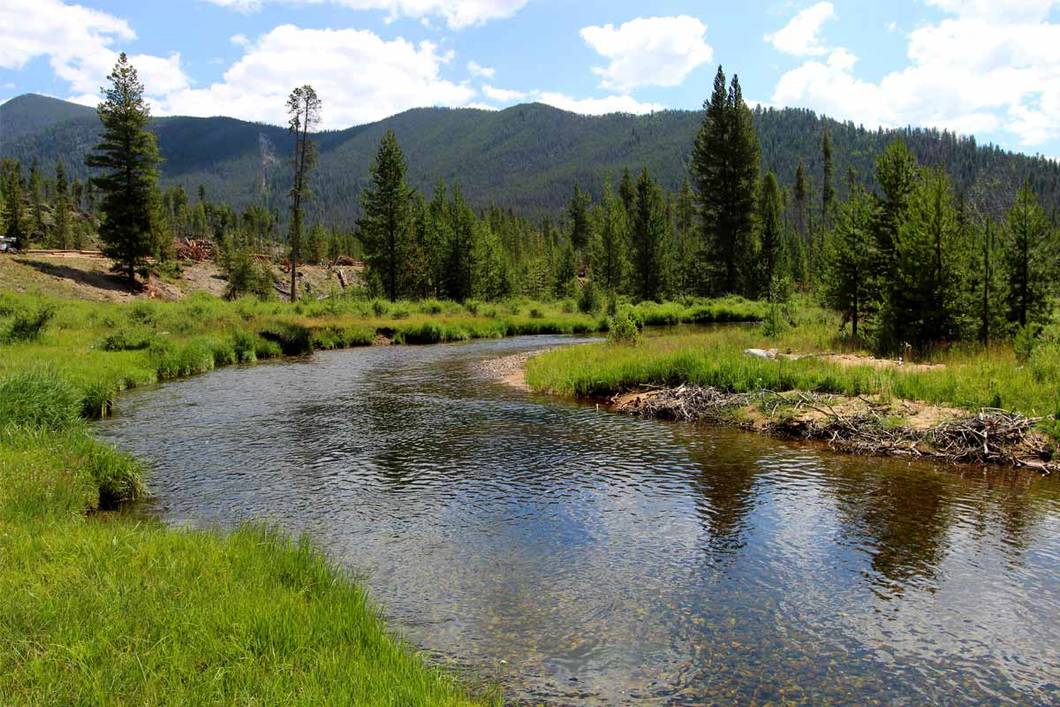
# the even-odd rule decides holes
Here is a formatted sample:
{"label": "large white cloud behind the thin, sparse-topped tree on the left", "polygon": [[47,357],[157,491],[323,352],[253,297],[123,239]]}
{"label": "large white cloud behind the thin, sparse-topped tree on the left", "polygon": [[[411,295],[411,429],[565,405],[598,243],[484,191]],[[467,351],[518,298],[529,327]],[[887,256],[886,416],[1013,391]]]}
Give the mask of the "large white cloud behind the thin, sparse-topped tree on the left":
{"label": "large white cloud behind the thin, sparse-topped tree on the left", "polygon": [[386,118],[419,106],[464,106],[466,85],[441,78],[452,59],[423,41],[386,40],[364,30],[305,30],[285,24],[268,32],[223,81],[165,96],[161,110],[189,116],[232,116],[284,124],[284,103],[296,86],[312,84],[323,101],[326,128]]}

